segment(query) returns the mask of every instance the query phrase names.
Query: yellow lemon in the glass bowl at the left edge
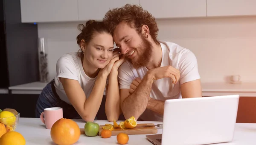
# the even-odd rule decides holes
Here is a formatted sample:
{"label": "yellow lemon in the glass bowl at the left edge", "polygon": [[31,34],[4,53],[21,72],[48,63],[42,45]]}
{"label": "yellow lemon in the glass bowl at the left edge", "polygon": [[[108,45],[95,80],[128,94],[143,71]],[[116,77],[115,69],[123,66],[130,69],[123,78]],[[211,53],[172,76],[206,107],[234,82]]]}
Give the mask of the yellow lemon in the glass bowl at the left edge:
{"label": "yellow lemon in the glass bowl at the left edge", "polygon": [[15,124],[15,120],[16,120],[16,117],[12,112],[2,111],[0,113],[0,123],[3,123],[5,125],[13,125]]}

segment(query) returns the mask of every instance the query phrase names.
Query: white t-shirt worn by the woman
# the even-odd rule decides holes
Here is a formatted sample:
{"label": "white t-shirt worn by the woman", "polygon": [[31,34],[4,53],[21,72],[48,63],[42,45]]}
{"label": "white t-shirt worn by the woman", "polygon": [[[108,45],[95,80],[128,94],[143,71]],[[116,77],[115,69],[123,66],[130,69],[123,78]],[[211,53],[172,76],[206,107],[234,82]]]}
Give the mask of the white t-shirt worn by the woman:
{"label": "white t-shirt worn by the woman", "polygon": [[81,88],[84,90],[86,98],[88,98],[90,93],[92,92],[93,86],[97,78],[90,78],[84,73],[81,58],[77,54],[78,53],[67,53],[61,56],[60,59],[58,59],[56,64],[57,76],[54,78],[56,93],[59,95],[61,100],[64,100],[70,105],[71,103],[67,98],[67,95],[59,78],[61,77],[77,80]]}

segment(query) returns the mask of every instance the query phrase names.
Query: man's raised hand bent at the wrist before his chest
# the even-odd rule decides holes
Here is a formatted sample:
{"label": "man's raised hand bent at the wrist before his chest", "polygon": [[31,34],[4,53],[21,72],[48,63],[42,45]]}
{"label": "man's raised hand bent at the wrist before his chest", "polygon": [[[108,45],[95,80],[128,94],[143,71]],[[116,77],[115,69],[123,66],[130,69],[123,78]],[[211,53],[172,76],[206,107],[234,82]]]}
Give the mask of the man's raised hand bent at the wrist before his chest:
{"label": "man's raised hand bent at the wrist before his chest", "polygon": [[180,79],[180,70],[177,70],[169,65],[166,67],[157,67],[149,70],[147,75],[151,75],[153,80],[172,78],[172,84],[176,84]]}

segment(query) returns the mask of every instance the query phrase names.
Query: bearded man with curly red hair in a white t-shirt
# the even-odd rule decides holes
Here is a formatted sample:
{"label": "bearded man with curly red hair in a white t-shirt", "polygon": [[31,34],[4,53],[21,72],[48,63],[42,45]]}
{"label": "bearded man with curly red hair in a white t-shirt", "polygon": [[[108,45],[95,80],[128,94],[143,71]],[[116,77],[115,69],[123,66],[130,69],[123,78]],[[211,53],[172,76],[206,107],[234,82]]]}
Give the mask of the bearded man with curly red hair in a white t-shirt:
{"label": "bearded man with curly red hair in a white t-shirt", "polygon": [[157,23],[148,11],[127,4],[109,10],[103,21],[126,58],[118,75],[126,119],[163,121],[166,99],[202,97],[195,55],[175,43],[158,41]]}

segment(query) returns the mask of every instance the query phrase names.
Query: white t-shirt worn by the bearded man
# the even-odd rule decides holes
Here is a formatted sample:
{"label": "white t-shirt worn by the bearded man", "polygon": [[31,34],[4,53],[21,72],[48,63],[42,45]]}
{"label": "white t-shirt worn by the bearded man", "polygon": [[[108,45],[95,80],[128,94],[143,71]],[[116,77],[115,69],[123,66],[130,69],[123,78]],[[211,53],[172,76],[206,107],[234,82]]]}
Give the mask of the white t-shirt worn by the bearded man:
{"label": "white t-shirt worn by the bearded man", "polygon": [[[152,84],[150,97],[157,100],[165,101],[166,99],[180,99],[180,85],[200,79],[198,73],[197,59],[190,50],[183,48],[172,42],[160,41],[162,48],[161,67],[172,66],[180,70],[180,80],[177,84],[172,84],[171,78],[162,78],[155,80]],[[143,79],[148,72],[146,67],[136,70],[129,61],[125,61],[119,67],[119,89],[130,89],[130,85],[135,78]],[[146,109],[140,116],[142,120],[163,121],[163,115]]]}

